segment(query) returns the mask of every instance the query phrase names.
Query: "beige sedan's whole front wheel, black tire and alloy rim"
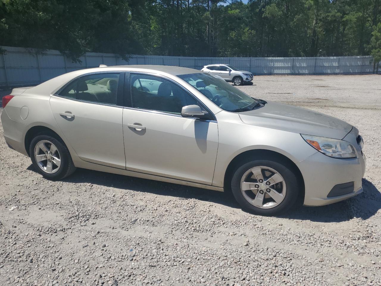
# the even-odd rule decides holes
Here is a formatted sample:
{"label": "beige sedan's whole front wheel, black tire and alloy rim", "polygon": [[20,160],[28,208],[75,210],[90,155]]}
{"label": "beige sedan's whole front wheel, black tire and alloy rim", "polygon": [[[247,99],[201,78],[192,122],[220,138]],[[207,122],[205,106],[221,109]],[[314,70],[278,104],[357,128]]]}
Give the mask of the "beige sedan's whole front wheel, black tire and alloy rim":
{"label": "beige sedan's whole front wheel, black tire and alloy rim", "polygon": [[[259,175],[259,169],[263,174],[263,183],[256,179]],[[293,169],[287,162],[277,159],[257,159],[243,163],[236,167],[232,176],[231,188],[234,198],[243,209],[253,214],[275,215],[285,213],[298,201],[301,190],[298,177]],[[280,176],[272,177],[276,173]],[[281,182],[267,186],[267,181],[270,184],[275,182],[271,178],[276,181],[281,180]],[[247,188],[250,190],[242,190]],[[262,193],[260,193],[261,191]],[[259,194],[258,198],[257,194]],[[260,205],[262,206],[259,207]]]}

